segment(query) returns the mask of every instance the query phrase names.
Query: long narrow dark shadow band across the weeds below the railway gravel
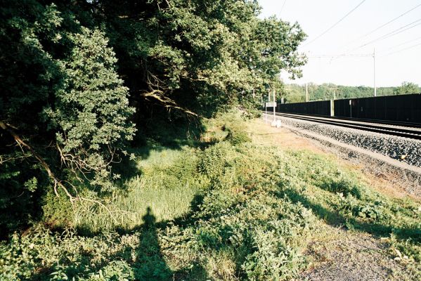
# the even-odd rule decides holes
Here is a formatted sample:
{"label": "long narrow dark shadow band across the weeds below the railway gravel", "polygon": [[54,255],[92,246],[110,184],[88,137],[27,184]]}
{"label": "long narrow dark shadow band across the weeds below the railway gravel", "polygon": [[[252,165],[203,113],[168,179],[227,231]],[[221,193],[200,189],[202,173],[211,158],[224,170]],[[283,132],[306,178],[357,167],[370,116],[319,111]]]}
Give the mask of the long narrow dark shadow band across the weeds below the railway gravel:
{"label": "long narrow dark shadow band across the weeds below the railway gravel", "polygon": [[387,226],[376,221],[362,221],[355,216],[344,216],[339,211],[334,211],[323,207],[320,204],[312,202],[305,195],[296,190],[286,189],[282,192],[277,192],[278,197],[288,197],[292,202],[303,204],[304,207],[311,209],[313,214],[318,218],[323,219],[330,226],[346,226],[355,230],[361,230],[365,233],[370,233],[377,237],[388,236],[393,233],[398,239],[411,239],[414,242],[421,242],[421,230],[419,228],[399,228]]}

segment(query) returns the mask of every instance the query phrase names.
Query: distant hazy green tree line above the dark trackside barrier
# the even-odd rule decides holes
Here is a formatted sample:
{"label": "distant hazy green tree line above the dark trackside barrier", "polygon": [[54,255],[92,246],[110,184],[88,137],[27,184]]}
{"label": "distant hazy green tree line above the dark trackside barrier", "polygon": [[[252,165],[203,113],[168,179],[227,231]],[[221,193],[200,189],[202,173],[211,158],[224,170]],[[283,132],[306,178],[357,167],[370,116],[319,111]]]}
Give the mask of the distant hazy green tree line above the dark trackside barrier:
{"label": "distant hazy green tree line above the dark trackside barrier", "polygon": [[[373,87],[368,86],[341,86],[336,84],[313,84],[309,83],[309,100],[330,100],[340,98],[365,98],[374,95]],[[377,96],[402,95],[406,93],[421,93],[420,86],[410,82],[403,82],[397,87],[379,87]],[[283,96],[286,103],[300,103],[306,101],[306,86],[287,84],[283,88]]]}

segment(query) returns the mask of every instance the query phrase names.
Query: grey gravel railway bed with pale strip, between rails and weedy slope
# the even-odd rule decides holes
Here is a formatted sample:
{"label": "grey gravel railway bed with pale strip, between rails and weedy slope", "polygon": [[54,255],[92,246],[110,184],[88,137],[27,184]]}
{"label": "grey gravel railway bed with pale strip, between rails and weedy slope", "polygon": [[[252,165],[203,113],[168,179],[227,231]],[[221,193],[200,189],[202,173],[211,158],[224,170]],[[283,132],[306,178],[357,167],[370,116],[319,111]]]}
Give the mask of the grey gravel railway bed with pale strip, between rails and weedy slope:
{"label": "grey gravel railway bed with pale strip, between rails and weedy slope", "polygon": [[394,175],[393,181],[410,194],[421,195],[421,141],[289,117],[277,119],[294,133],[323,145],[325,150],[362,164],[371,174]]}

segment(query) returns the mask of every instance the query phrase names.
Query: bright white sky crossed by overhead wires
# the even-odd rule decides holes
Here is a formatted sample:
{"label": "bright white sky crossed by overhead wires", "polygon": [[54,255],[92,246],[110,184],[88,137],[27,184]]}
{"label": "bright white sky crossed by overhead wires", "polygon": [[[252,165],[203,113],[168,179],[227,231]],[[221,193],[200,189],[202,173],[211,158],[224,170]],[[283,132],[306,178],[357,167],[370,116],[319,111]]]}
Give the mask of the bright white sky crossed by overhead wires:
{"label": "bright white sky crossed by overhead wires", "polygon": [[302,67],[303,77],[290,80],[282,73],[285,83],[373,86],[375,80],[377,87],[399,86],[403,81],[421,85],[421,0],[259,0],[259,4],[261,18],[276,15],[298,22],[308,35],[299,47],[309,58]]}

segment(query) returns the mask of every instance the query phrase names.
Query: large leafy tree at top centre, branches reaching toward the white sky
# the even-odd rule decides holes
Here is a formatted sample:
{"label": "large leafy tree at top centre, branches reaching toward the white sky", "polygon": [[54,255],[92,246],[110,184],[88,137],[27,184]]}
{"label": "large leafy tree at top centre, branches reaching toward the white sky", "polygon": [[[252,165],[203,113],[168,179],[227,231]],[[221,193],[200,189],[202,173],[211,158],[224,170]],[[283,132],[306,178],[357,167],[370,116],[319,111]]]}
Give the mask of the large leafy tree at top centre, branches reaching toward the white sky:
{"label": "large leafy tree at top centre, branches reaching toward the white sky", "polygon": [[304,32],[298,24],[260,20],[257,1],[136,3],[98,0],[91,9],[107,27],[138,112],[150,103],[202,112],[246,102],[253,89],[264,93],[265,84],[277,83],[280,70],[301,74]]}

